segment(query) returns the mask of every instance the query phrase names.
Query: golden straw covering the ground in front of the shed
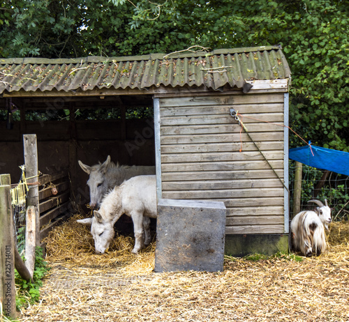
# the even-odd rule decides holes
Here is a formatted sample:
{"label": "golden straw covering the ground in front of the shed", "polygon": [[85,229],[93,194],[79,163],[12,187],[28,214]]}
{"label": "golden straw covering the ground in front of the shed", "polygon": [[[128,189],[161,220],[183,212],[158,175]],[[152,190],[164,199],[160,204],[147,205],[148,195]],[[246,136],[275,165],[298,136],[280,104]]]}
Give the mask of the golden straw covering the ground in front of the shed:
{"label": "golden straw covering the ground in front of the shed", "polygon": [[349,224],[332,224],[329,252],[296,261],[225,259],[221,273],[153,273],[154,243],[131,254],[118,236],[94,254],[89,229],[57,227],[41,300],[20,321],[349,321]]}

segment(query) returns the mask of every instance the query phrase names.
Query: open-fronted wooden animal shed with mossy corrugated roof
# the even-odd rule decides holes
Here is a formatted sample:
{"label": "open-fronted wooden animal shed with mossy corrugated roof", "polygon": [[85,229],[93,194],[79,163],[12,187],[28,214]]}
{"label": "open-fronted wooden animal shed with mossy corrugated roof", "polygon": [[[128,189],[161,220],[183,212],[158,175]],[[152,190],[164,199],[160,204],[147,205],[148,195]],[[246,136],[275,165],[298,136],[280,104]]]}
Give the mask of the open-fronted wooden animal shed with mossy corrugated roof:
{"label": "open-fronted wooden animal shed with mossy corrugated roof", "polygon": [[[289,86],[278,46],[0,59],[0,172],[21,164],[26,133],[38,135],[39,169],[40,154],[42,167],[69,169],[75,202],[88,198],[77,160],[156,164],[158,198],[224,201],[226,254],[287,250]],[[129,117],[134,107],[153,108],[154,123]],[[31,120],[40,111],[59,118]]]}

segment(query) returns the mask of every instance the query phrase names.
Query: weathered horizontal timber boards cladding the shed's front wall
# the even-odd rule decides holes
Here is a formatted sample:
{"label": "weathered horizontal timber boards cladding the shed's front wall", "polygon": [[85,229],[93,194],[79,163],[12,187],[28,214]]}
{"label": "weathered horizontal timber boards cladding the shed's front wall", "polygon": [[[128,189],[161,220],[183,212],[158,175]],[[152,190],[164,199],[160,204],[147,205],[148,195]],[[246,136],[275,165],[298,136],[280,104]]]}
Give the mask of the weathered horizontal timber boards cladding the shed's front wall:
{"label": "weathered horizontal timber boards cladding the shed's front wall", "polygon": [[160,98],[162,197],[224,201],[227,234],[283,233],[284,187],[270,167],[283,179],[283,105],[283,93]]}

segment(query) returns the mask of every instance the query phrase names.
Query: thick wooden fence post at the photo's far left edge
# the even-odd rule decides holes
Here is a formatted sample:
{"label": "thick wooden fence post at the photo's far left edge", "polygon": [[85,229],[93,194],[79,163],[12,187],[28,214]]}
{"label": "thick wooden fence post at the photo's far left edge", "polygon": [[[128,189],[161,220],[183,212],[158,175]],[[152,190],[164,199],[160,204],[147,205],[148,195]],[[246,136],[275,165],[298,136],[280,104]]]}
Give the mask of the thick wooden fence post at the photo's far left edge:
{"label": "thick wooden fence post at the photo's far left edge", "polygon": [[[1,178],[8,181],[8,178]],[[16,317],[15,290],[15,237],[13,235],[13,212],[10,185],[0,185],[0,301],[3,314]]]}

